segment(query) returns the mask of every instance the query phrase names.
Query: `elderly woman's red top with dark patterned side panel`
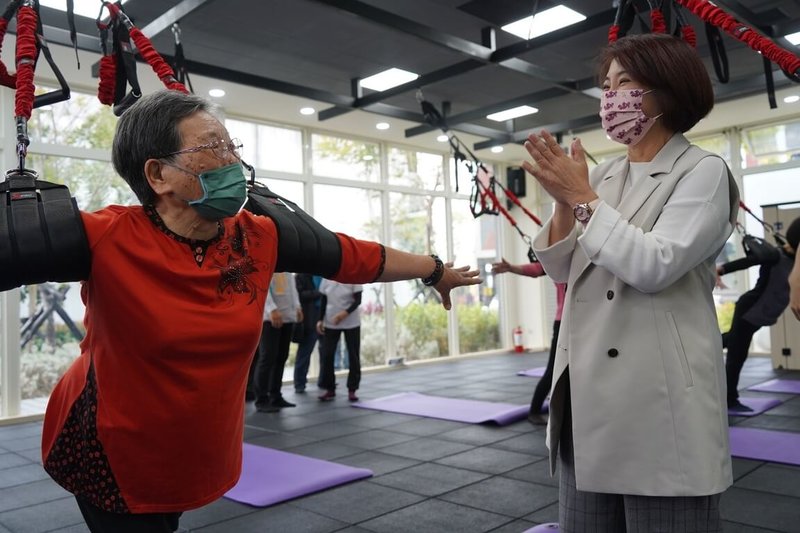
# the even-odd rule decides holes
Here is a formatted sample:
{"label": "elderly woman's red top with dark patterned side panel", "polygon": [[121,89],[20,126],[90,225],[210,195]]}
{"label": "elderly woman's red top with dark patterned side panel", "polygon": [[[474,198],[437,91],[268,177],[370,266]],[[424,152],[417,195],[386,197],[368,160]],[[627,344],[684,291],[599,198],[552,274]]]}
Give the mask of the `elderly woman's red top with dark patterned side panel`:
{"label": "elderly woman's red top with dark patterned side panel", "polygon": [[[120,513],[186,511],[240,474],[250,359],[275,267],[273,222],[242,211],[189,241],[153,208],[84,213],[86,338],[47,406],[42,458],[68,491]],[[374,281],[378,243],[339,235],[334,279]]]}

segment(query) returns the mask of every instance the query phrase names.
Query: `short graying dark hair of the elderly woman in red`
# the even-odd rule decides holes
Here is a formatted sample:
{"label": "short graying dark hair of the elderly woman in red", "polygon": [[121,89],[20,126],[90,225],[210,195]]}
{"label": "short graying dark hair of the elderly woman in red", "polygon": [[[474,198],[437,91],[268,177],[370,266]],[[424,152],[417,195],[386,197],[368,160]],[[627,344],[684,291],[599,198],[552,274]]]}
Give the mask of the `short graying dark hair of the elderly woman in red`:
{"label": "short graying dark hair of the elderly woman in red", "polygon": [[111,161],[142,205],[155,202],[156,194],[144,174],[148,159],[181,149],[178,123],[197,113],[211,112],[211,104],[192,94],[162,90],[133,104],[117,122]]}

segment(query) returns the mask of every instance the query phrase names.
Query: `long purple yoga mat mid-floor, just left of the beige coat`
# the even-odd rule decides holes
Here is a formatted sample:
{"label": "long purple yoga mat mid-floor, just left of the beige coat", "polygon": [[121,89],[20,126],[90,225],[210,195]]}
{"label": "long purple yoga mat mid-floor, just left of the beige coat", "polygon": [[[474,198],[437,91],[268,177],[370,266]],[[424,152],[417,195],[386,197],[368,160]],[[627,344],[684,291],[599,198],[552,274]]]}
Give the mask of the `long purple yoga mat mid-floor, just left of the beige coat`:
{"label": "long purple yoga mat mid-floor, just left of the beige coat", "polygon": [[470,424],[496,422],[501,426],[525,418],[528,416],[529,409],[527,405],[426,396],[417,392],[401,392],[352,405],[364,409],[427,416]]}

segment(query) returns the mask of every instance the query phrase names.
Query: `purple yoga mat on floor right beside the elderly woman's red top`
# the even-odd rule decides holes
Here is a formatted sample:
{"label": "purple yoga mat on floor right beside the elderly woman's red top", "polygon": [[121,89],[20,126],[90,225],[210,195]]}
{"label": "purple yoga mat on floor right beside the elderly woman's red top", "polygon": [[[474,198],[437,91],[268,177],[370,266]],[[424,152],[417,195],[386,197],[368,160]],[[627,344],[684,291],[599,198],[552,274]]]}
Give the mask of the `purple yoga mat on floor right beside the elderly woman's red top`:
{"label": "purple yoga mat on floor right beside the elderly woman's red top", "polygon": [[266,507],[356,479],[372,471],[245,443],[242,475],[225,493],[237,502]]}

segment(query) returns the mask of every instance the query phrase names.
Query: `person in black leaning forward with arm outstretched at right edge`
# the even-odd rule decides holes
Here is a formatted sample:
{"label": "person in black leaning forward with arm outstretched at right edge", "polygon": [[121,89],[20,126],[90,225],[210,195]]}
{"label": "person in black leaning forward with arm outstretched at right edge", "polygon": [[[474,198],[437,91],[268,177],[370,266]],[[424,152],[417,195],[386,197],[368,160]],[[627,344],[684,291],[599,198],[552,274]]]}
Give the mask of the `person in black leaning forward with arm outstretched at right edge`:
{"label": "person in black leaning forward with arm outstretched at right edge", "polygon": [[[722,346],[728,350],[725,373],[729,411],[752,411],[739,401],[739,375],[747,360],[753,335],[763,326],[771,326],[778,322],[778,318],[789,305],[789,274],[795,263],[798,241],[800,241],[800,218],[789,225],[786,242],[780,249],[763,239],[746,235],[743,239],[746,256],[717,267],[717,275],[724,276],[752,266],[760,266],[755,287],[736,300],[731,327],[722,334]],[[719,282],[719,285],[722,283]]]}

